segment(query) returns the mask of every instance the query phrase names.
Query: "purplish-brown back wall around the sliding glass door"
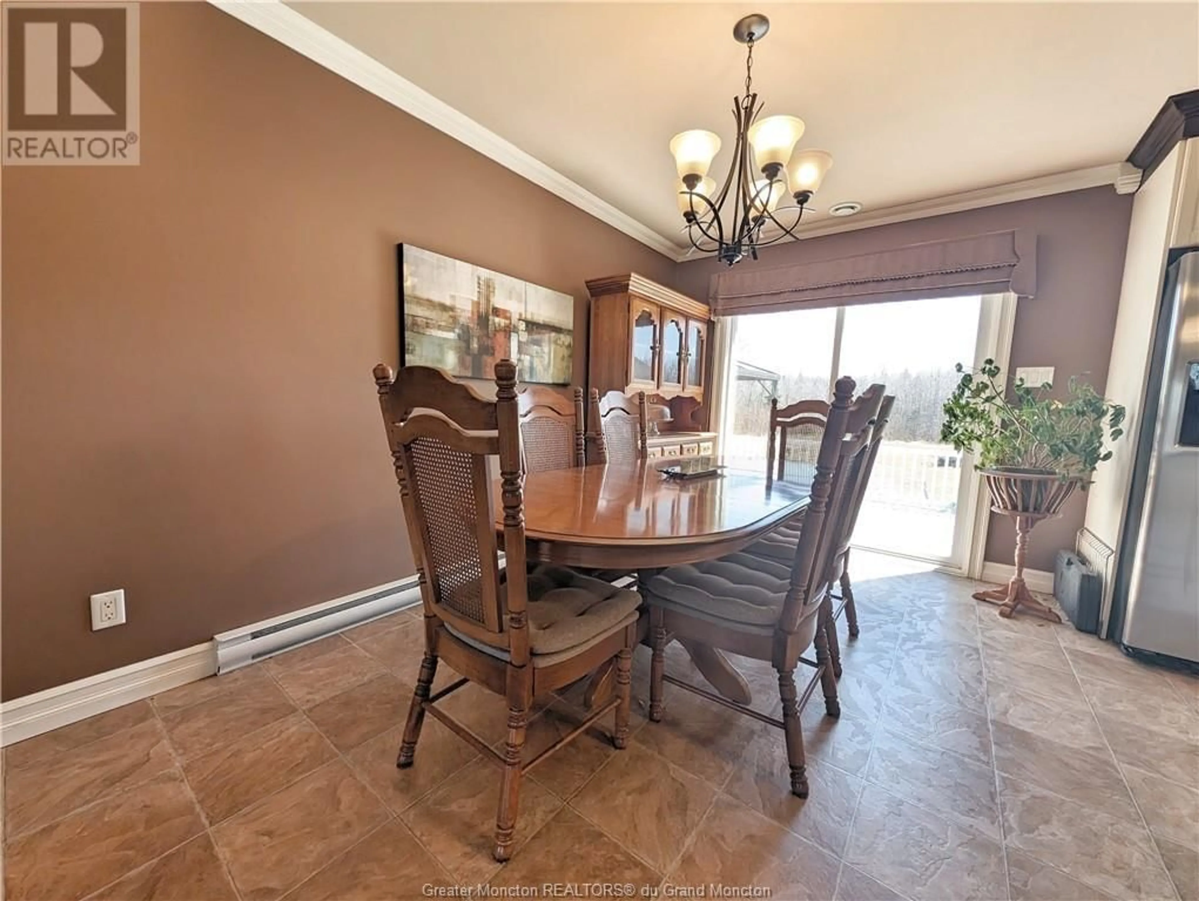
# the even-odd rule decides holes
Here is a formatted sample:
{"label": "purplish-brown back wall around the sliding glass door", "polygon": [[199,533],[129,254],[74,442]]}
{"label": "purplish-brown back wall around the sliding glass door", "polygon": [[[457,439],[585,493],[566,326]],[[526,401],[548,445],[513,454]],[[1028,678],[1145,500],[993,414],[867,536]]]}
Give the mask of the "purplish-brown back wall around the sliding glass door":
{"label": "purplish-brown back wall around the sliding glass door", "polygon": [[[808,238],[767,248],[760,265],[832,260],[958,235],[1031,229],[1037,232],[1037,296],[1022,301],[1017,308],[1011,365],[1013,369],[1055,367],[1060,386],[1065,386],[1066,376],[1086,373],[1096,388],[1102,389],[1115,331],[1131,216],[1132,195],[1121,196],[1111,188],[1091,188]],[[709,278],[719,268],[719,264],[709,260],[679,264],[675,288],[706,300]],[[1102,466],[1096,478],[1103,478]],[[1079,494],[1068,502],[1060,519],[1037,526],[1029,550],[1029,567],[1053,569],[1056,551],[1074,546],[1085,507],[1086,497]],[[1011,564],[1014,549],[1011,521],[992,516],[986,558]]]}

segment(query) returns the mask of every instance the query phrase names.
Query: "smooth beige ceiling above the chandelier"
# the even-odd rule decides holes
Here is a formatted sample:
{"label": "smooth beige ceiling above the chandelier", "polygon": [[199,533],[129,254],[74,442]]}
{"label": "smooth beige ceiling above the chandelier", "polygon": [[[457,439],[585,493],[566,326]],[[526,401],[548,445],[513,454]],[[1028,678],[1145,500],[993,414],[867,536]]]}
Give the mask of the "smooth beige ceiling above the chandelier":
{"label": "smooth beige ceiling above the chandelier", "polygon": [[818,216],[1116,163],[1199,85],[1194,2],[289,5],[680,243],[667,143],[717,132],[723,176],[748,12],[766,114],[835,157]]}

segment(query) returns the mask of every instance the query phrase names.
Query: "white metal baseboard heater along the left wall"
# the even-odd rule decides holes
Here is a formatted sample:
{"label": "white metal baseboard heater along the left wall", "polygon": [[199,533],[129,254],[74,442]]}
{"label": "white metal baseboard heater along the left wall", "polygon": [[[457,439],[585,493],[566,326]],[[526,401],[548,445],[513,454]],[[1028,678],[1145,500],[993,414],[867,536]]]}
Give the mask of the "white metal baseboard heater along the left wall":
{"label": "white metal baseboard heater along the left wall", "polygon": [[224,673],[421,603],[416,576],[213,635]]}

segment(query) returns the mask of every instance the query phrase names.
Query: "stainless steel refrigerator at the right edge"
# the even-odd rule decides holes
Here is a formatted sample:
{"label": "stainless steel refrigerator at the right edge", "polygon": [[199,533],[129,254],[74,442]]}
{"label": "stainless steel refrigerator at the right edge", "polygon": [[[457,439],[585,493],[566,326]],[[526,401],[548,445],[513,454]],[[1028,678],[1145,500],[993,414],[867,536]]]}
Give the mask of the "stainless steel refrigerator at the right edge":
{"label": "stainless steel refrigerator at the right edge", "polygon": [[1171,252],[1164,284],[1109,637],[1199,663],[1199,248]]}

